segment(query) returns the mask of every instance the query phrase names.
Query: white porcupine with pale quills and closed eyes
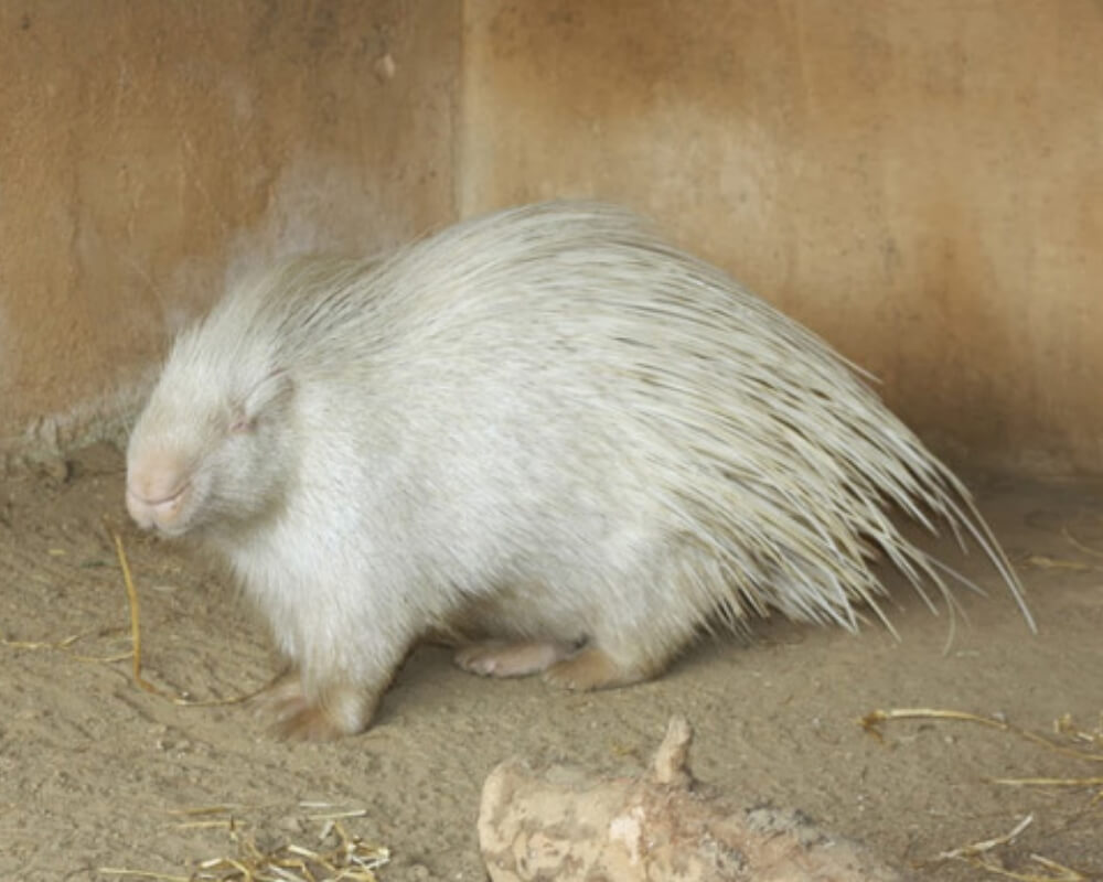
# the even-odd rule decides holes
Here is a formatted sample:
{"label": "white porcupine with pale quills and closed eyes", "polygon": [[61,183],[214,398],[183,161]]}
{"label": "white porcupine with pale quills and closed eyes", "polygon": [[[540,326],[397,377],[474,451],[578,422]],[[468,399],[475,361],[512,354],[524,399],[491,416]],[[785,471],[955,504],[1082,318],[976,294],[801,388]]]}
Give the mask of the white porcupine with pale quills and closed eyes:
{"label": "white porcupine with pale quills and closed eyes", "polygon": [[942,588],[892,503],[972,534],[1019,598],[965,491],[837,355],[589,203],[239,287],[178,342],[128,487],[139,521],[222,547],[340,731],[457,621],[586,642],[609,682],[750,613],[854,627],[874,549]]}

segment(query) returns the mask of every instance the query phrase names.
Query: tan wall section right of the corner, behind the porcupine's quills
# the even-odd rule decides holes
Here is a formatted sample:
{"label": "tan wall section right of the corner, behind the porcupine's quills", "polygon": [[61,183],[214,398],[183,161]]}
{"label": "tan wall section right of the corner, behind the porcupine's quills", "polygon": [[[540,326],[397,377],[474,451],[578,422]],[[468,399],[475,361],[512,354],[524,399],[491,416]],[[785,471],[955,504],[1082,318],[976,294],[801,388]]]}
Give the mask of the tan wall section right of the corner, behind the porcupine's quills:
{"label": "tan wall section right of the corner, behind the porcupine's quills", "polygon": [[596,194],[955,461],[1103,471],[1103,4],[479,0],[463,213]]}

